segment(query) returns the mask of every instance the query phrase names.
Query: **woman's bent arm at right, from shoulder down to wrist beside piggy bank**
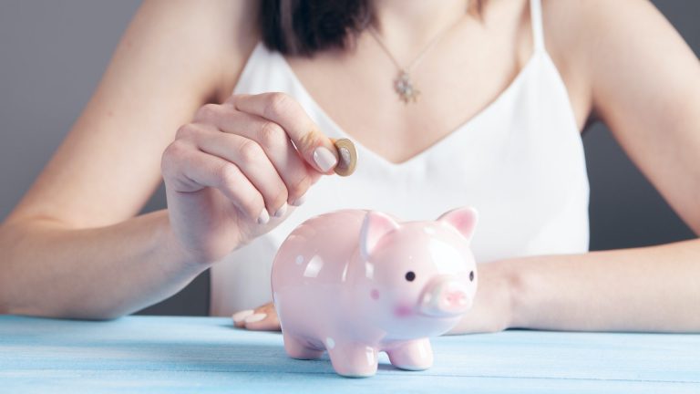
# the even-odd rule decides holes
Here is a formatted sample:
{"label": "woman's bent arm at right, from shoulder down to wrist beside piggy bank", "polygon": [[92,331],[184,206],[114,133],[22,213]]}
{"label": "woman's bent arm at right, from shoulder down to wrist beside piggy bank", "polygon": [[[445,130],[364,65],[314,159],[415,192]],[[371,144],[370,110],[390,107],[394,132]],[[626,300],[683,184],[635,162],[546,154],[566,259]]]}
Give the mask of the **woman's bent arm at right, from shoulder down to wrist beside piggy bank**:
{"label": "woman's bent arm at right, from shoulder down to wrist beside piggy bank", "polygon": [[[566,3],[577,18],[566,34],[577,36],[571,50],[580,51],[577,71],[587,78],[594,114],[700,233],[698,58],[648,1]],[[507,327],[700,332],[697,239],[480,268],[475,308],[453,333]]]}

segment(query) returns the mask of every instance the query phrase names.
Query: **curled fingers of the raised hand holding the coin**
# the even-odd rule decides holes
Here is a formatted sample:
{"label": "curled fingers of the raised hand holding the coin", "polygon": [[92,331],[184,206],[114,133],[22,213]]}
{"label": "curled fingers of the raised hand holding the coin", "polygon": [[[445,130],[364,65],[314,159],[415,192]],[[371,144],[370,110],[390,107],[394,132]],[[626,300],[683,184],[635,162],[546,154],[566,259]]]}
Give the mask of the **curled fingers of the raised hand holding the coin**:
{"label": "curled fingers of the raised hand holding the coin", "polygon": [[[180,183],[178,191],[217,188],[267,223],[283,217],[287,204],[304,202],[318,171],[335,168],[335,155],[332,141],[295,100],[281,93],[232,96],[201,107],[195,122],[178,130],[163,156],[163,174],[169,184]],[[166,176],[169,169],[173,176]]]}

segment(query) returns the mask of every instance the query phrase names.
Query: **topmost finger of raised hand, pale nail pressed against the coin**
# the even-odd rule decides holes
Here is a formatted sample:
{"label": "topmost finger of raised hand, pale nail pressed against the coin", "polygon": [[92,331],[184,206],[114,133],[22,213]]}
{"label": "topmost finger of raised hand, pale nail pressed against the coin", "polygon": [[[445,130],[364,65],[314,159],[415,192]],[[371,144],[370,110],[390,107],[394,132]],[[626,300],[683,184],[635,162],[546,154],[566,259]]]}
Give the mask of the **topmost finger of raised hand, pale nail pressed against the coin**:
{"label": "topmost finger of raised hand, pale nail pressed against the coin", "polygon": [[280,125],[306,162],[322,173],[338,163],[333,141],[318,130],[296,100],[283,93],[236,95],[229,102],[235,109],[257,115]]}

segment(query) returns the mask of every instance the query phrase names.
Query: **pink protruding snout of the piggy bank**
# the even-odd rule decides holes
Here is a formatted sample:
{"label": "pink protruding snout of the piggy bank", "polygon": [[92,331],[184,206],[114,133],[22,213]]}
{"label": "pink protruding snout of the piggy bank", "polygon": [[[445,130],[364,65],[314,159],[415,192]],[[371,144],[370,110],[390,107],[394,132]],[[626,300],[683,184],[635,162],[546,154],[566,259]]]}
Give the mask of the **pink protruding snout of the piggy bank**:
{"label": "pink protruding snout of the piggy bank", "polygon": [[450,317],[467,312],[472,294],[462,281],[437,278],[431,281],[420,298],[420,312],[427,316]]}

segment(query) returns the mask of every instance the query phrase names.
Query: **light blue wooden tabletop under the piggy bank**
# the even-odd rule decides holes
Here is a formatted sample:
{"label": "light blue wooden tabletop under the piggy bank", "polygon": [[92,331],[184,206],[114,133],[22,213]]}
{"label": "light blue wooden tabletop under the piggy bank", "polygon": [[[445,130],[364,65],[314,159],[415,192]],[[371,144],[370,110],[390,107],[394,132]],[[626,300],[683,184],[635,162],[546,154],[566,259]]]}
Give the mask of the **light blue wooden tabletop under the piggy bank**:
{"label": "light blue wooden tabletop under the piggy bank", "polygon": [[506,331],[433,339],[435,366],[341,378],[218,317],[0,316],[0,393],[700,393],[700,335]]}

